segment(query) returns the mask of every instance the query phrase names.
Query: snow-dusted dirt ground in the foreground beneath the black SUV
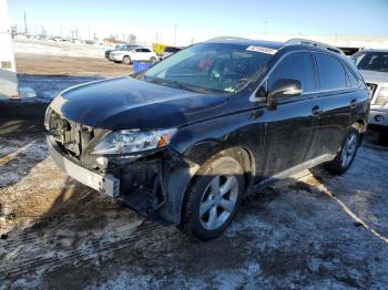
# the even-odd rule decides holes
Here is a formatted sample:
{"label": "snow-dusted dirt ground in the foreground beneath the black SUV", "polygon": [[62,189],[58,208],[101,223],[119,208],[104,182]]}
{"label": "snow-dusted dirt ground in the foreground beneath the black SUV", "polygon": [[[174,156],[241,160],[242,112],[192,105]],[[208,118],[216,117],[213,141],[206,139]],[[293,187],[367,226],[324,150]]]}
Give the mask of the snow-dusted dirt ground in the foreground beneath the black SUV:
{"label": "snow-dusted dirt ground in the foreground beneath the black SUV", "polygon": [[304,172],[244,201],[200,244],[68,178],[41,133],[0,138],[3,289],[384,289],[388,149]]}

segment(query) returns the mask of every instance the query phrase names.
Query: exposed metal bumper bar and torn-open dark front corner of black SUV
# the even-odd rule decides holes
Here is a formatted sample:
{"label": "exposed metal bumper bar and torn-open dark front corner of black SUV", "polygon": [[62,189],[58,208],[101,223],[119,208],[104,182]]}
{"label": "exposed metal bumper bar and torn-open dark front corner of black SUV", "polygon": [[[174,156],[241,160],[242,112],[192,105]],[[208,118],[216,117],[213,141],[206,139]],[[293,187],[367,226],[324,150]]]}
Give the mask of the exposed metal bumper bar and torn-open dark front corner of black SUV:
{"label": "exposed metal bumper bar and torn-open dark front corner of black SUV", "polygon": [[177,153],[165,151],[141,159],[109,159],[109,169],[85,168],[48,136],[53,162],[75,180],[122,200],[140,215],[162,225],[177,225],[187,186],[197,170]]}

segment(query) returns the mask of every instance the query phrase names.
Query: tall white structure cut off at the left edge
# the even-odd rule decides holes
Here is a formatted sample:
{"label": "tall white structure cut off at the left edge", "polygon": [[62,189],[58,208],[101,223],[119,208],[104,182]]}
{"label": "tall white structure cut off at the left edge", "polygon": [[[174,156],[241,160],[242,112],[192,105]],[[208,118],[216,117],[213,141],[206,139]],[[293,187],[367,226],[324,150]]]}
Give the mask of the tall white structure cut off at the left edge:
{"label": "tall white structure cut off at the left edge", "polygon": [[7,0],[0,0],[0,100],[19,97]]}

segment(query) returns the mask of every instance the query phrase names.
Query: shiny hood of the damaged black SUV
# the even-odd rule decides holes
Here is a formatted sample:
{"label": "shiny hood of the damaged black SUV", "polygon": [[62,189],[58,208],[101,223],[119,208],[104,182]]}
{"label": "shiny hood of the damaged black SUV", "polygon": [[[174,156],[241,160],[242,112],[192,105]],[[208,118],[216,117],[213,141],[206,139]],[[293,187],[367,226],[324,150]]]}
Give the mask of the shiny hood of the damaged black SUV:
{"label": "shiny hood of the damaged black SUV", "polygon": [[130,76],[71,87],[51,107],[63,117],[96,128],[180,127],[222,114],[225,95],[204,95]]}

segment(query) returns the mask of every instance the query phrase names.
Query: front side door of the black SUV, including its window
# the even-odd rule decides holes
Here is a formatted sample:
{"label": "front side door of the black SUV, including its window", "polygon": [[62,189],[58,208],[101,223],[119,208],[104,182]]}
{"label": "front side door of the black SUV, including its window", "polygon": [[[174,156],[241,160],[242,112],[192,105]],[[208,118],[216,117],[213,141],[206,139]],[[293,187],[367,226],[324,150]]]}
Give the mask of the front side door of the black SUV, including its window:
{"label": "front side door of the black SUV, including its window", "polygon": [[279,79],[298,80],[303,94],[284,96],[275,110],[263,116],[265,125],[264,160],[262,176],[270,177],[316,156],[312,151],[318,130],[314,110],[319,110],[317,77],[310,52],[293,52],[286,55],[268,77],[268,87]]}

